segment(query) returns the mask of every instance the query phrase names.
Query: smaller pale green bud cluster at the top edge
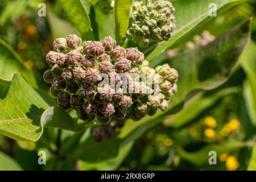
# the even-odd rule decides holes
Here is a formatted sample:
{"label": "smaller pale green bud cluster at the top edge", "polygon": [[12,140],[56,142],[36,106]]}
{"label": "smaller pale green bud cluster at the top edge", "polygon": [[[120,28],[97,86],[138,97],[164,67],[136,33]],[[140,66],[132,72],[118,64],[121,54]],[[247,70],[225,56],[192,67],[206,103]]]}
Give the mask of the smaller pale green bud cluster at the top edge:
{"label": "smaller pale green bud cluster at the top edge", "polygon": [[175,9],[168,0],[136,0],[130,13],[131,26],[126,37],[141,47],[150,42],[162,42],[171,38],[175,29]]}

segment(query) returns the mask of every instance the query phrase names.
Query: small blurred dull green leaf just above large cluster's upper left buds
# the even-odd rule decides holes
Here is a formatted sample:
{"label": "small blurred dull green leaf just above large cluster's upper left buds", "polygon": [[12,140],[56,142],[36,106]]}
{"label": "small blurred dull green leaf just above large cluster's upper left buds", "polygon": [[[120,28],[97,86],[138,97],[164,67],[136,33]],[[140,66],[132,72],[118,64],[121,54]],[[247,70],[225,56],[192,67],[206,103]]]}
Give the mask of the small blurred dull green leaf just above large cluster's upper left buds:
{"label": "small blurred dull green leaf just above large cluster's upper left buds", "polygon": [[52,32],[52,38],[65,38],[70,34],[79,35],[77,29],[65,19],[58,18],[53,15],[50,11],[47,12],[47,20]]}

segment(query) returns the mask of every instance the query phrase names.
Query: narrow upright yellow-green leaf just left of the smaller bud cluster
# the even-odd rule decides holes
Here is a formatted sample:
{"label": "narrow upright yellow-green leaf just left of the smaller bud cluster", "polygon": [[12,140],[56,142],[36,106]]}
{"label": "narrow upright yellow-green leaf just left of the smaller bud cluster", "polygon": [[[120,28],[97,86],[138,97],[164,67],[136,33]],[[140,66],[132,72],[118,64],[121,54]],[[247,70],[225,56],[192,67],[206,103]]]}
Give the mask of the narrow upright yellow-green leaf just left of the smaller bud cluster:
{"label": "narrow upright yellow-green leaf just left of the smaller bud cluster", "polygon": [[133,0],[115,0],[115,38],[120,43],[125,37],[125,32],[129,27],[129,13],[133,5]]}

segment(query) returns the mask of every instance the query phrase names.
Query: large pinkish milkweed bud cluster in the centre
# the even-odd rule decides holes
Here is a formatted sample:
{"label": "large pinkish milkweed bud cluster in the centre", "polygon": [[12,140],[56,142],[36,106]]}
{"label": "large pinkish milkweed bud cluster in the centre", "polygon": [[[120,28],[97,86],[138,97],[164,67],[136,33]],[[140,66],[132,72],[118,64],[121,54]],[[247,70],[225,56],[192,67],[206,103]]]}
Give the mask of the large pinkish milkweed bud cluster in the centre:
{"label": "large pinkish milkweed bud cluster in the centre", "polygon": [[56,39],[46,61],[51,69],[44,80],[52,84],[59,106],[77,110],[86,122],[97,118],[121,126],[125,118],[138,121],[166,110],[177,92],[174,68],[150,68],[142,52],[118,46],[110,36],[83,43],[77,35]]}

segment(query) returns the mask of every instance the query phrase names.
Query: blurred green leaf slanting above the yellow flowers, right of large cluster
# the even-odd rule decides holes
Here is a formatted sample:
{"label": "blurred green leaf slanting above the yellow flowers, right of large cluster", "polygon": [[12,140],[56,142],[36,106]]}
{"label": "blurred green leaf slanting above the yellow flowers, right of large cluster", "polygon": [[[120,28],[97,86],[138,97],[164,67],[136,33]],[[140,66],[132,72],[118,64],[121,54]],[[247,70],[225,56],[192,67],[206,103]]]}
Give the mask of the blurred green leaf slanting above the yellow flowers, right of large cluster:
{"label": "blurred green leaf slanting above the yellow flowers, right of large cluster", "polygon": [[236,93],[239,90],[239,88],[226,88],[212,94],[197,94],[195,97],[191,98],[191,100],[186,102],[183,110],[177,114],[171,115],[171,117],[168,117],[164,122],[171,127],[182,127],[192,121],[192,119],[197,117],[202,111],[215,104],[221,97]]}

